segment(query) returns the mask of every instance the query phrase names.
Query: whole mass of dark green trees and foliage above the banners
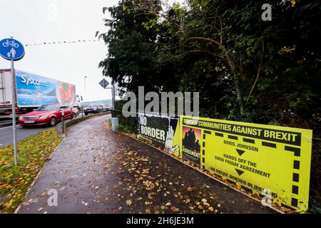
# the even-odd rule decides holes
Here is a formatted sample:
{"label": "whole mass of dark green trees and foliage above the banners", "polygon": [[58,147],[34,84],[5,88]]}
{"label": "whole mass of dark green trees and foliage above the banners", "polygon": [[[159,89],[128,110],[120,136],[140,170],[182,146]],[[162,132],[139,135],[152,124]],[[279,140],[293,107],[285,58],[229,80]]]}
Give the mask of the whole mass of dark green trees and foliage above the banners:
{"label": "whole mass of dark green trees and foliage above the banners", "polygon": [[201,115],[320,128],[320,3],[120,1],[100,63],[124,90],[199,91]]}

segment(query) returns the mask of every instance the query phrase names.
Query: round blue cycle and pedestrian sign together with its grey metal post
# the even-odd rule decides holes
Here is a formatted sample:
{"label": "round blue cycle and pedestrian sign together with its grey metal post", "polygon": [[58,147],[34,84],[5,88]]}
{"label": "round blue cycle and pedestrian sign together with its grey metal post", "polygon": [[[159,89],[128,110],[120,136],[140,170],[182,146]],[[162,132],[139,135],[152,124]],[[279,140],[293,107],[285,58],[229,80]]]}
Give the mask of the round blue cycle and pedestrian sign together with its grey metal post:
{"label": "round blue cycle and pedestrian sign together with its grey metal post", "polygon": [[19,61],[24,57],[24,46],[12,36],[0,41],[0,56],[11,61],[12,79],[12,132],[14,137],[14,165],[18,165],[17,145],[16,145],[16,76],[14,72],[14,61]]}

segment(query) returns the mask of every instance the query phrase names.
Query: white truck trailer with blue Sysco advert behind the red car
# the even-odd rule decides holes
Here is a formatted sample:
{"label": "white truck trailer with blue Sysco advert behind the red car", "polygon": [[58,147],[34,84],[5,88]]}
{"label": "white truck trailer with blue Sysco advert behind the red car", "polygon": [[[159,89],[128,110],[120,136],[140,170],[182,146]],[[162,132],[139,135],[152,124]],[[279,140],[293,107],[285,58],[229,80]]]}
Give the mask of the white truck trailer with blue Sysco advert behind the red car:
{"label": "white truck trailer with blue Sysco advert behind the red car", "polygon": [[[14,70],[16,114],[29,113],[41,105],[60,103],[77,106],[76,86],[33,73]],[[12,79],[10,69],[0,69],[0,120],[11,118]]]}

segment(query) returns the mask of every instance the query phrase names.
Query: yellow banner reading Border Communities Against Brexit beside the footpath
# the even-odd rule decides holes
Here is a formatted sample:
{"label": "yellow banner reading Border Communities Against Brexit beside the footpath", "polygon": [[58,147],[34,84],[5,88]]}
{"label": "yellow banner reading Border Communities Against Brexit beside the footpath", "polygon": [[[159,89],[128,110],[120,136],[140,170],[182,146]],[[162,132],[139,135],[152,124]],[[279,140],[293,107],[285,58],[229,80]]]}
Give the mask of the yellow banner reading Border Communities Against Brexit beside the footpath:
{"label": "yellow banner reading Border Communities Against Brexit beside the footpath", "polygon": [[180,116],[180,156],[273,204],[307,210],[312,130]]}

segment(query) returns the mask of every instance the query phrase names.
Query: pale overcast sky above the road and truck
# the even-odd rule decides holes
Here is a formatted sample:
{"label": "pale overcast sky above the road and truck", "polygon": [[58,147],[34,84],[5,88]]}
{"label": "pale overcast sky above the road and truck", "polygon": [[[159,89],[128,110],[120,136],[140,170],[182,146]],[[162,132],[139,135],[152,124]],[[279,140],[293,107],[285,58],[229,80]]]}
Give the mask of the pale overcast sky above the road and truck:
{"label": "pale overcast sky above the road and truck", "polygon": [[[173,0],[170,1],[170,3]],[[14,36],[23,44],[94,39],[96,31],[107,31],[103,7],[118,0],[1,0],[0,40]],[[26,55],[15,68],[76,85],[86,100],[111,98],[98,82],[103,78],[98,63],[106,57],[103,41],[58,45],[26,46]],[[10,62],[0,58],[0,68]]]}

